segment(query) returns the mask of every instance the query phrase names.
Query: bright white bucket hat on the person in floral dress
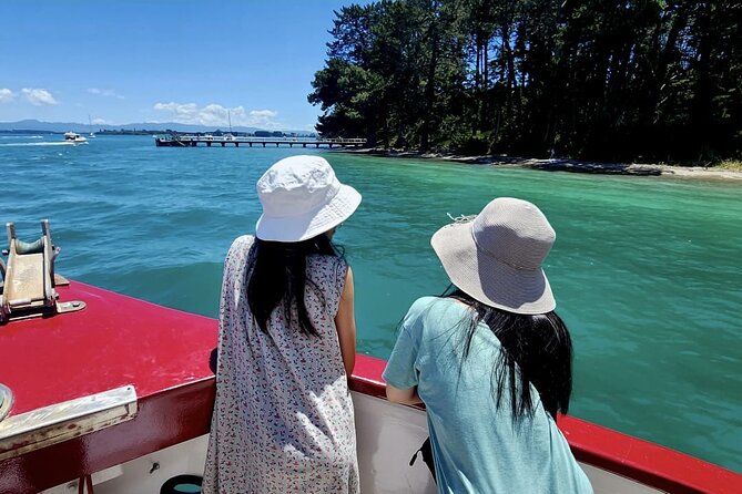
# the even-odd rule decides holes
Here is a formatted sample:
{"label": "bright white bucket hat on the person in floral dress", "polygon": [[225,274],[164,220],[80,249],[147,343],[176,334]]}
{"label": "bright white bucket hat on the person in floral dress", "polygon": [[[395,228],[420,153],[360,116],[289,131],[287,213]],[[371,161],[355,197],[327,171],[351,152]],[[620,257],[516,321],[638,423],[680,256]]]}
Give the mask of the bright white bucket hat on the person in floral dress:
{"label": "bright white bucket hat on the person in floral dress", "polygon": [[257,181],[257,196],[263,215],[255,235],[275,241],[316,237],[345,222],[360,204],[360,194],[340,184],[325,158],[313,155],[274,163]]}

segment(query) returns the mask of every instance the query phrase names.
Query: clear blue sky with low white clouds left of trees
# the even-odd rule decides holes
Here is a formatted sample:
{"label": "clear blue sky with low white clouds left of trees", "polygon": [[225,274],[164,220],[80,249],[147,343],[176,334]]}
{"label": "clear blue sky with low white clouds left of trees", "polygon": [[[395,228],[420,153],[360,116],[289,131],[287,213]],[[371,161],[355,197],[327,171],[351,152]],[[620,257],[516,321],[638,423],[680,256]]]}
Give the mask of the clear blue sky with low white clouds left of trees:
{"label": "clear blue sky with low white clouds left of trees", "polygon": [[[2,0],[0,122],[312,130],[344,0]],[[365,3],[365,2],[362,2]]]}

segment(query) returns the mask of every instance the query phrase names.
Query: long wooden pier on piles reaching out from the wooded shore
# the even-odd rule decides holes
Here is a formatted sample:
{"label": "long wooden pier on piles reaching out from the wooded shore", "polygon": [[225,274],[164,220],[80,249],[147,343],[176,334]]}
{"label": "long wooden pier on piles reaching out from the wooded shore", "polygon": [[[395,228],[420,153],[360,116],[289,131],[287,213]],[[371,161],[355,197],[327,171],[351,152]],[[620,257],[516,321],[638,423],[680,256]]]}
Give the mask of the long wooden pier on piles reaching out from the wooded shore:
{"label": "long wooden pier on piles reaching out from the wooded shore", "polygon": [[234,135],[193,135],[169,134],[156,135],[154,144],[157,147],[197,147],[235,146],[235,147],[363,147],[365,138],[323,138],[323,137],[242,137]]}

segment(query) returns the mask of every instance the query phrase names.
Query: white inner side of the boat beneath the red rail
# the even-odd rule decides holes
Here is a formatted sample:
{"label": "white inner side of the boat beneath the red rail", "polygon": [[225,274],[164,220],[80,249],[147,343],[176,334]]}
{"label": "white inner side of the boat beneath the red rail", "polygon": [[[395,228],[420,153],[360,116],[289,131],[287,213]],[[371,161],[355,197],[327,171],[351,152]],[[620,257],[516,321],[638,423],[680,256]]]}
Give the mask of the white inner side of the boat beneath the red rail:
{"label": "white inner side of the boat beneath the red rail", "polygon": [[[425,412],[353,392],[358,434],[360,492],[364,494],[435,494],[425,463],[409,460],[428,435]],[[207,435],[176,444],[92,475],[96,494],[157,493],[176,475],[202,475]],[[582,464],[596,494],[660,493],[632,480]],[[78,492],[69,482],[42,494]]]}

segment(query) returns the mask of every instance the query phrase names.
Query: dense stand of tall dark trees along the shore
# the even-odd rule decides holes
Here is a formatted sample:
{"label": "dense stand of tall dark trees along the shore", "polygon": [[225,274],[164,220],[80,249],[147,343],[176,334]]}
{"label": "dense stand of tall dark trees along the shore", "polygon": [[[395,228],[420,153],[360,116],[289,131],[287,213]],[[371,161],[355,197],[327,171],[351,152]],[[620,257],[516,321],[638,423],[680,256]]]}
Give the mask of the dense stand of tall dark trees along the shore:
{"label": "dense stand of tall dark trees along the shore", "polygon": [[742,152],[742,2],[383,0],[336,13],[308,100],[372,145],[599,159]]}

